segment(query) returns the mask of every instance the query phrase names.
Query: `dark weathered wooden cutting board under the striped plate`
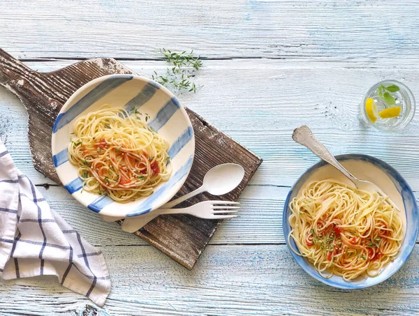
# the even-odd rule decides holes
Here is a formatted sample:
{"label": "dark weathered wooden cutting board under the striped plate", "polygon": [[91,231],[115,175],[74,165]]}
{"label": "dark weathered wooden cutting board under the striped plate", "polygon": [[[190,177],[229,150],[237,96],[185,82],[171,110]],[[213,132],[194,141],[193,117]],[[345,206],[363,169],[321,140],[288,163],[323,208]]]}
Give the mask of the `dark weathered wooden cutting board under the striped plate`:
{"label": "dark weathered wooden cutting board under the striped plate", "polygon": [[[0,49],[0,84],[22,101],[29,116],[29,147],[36,170],[60,183],[52,162],[52,126],[66,100],[87,82],[113,73],[133,73],[115,59],[98,58],[80,61],[51,73],[38,73]],[[201,194],[179,207],[203,200],[237,200],[258,169],[262,159],[226,134],[217,130],[195,112],[186,109],[196,137],[196,154],[191,173],[176,197],[198,188],[205,173],[221,163],[238,163],[244,167],[242,183],[223,197]],[[122,223],[120,221],[119,223]],[[221,220],[203,220],[193,216],[159,216],[137,236],[192,269]]]}

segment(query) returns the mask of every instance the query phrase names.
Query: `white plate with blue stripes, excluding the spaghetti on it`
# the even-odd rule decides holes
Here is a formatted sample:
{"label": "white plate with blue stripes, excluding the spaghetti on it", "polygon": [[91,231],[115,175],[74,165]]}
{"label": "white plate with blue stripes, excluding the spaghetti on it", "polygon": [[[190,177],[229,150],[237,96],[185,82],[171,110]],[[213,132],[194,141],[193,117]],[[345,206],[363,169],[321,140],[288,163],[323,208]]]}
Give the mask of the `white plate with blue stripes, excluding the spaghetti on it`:
{"label": "white plate with blue stripes, excluding the spaghetti on it", "polygon": [[[86,192],[82,190],[78,168],[68,162],[67,146],[74,122],[105,103],[124,107],[128,112],[135,107],[149,114],[149,126],[170,144],[172,175],[149,197],[119,203],[107,195]],[[194,153],[195,135],[184,107],[164,86],[138,75],[108,75],[85,84],[61,108],[52,130],[52,158],[61,183],[76,200],[102,216],[126,218],[158,209],[182,188],[191,171]]]}

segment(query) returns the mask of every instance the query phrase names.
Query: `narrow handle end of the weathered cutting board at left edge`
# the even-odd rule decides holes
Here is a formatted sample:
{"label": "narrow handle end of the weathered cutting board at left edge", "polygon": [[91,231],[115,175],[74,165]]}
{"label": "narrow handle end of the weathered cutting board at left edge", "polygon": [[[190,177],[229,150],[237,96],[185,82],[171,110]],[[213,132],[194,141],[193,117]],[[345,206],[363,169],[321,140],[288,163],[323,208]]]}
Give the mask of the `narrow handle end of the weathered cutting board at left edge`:
{"label": "narrow handle end of the weathered cutting board at left edge", "polygon": [[12,57],[0,48],[0,84],[16,95],[26,80],[22,77],[30,76],[31,68]]}

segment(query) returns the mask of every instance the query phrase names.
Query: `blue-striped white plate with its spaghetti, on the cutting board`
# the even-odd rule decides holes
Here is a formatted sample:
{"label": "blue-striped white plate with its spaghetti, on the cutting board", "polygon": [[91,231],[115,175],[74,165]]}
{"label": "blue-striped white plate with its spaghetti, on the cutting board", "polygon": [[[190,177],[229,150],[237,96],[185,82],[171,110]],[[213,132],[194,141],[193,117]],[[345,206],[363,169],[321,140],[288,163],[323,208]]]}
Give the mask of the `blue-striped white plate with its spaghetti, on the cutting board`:
{"label": "blue-striped white plate with its spaghetti, on the cutting board", "polygon": [[189,116],[165,87],[108,75],[76,91],[54,123],[52,156],[61,183],[103,216],[159,208],[182,187],[195,151]]}

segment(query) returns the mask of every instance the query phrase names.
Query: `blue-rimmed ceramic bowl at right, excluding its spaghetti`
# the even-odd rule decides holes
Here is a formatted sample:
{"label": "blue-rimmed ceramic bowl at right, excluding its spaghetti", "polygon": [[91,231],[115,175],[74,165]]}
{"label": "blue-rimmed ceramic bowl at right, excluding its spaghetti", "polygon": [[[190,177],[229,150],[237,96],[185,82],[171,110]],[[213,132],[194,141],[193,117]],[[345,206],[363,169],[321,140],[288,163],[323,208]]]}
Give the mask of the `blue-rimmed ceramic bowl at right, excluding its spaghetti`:
{"label": "blue-rimmed ceramic bowl at right, excluding its spaghetti", "polygon": [[[336,158],[355,176],[358,176],[360,179],[372,181],[380,186],[380,188],[390,196],[392,201],[397,204],[399,209],[404,207],[406,212],[406,234],[404,236],[402,248],[400,248],[398,255],[394,258],[394,261],[385,266],[383,271],[381,271],[378,276],[357,278],[349,282],[344,281],[344,279],[339,276],[323,278],[320,274],[318,274],[316,269],[314,269],[313,264],[311,264],[307,259],[295,255],[295,253],[293,253],[290,249],[291,255],[293,255],[294,259],[298,264],[300,264],[304,271],[309,273],[309,275],[316,280],[319,280],[327,285],[338,287],[340,289],[361,289],[363,287],[370,287],[390,278],[390,276],[396,273],[403,266],[411,255],[413,247],[416,243],[419,227],[416,198],[413,195],[409,184],[406,183],[399,172],[387,163],[384,163],[382,160],[358,154],[345,154],[336,156]],[[289,203],[309,181],[329,178],[339,178],[339,180],[345,179],[344,176],[342,176],[334,167],[328,165],[324,161],[321,161],[304,172],[304,174],[300,176],[300,179],[298,179],[294,184],[293,188],[291,188],[290,193],[288,193],[288,197],[286,198],[284,205],[284,217],[282,222],[284,223],[284,236],[288,248],[293,247],[295,250],[298,249],[293,239],[288,241],[288,234],[291,231],[291,227],[288,223],[288,218],[291,215],[291,211],[288,207]],[[347,181],[347,179],[345,181]]]}

